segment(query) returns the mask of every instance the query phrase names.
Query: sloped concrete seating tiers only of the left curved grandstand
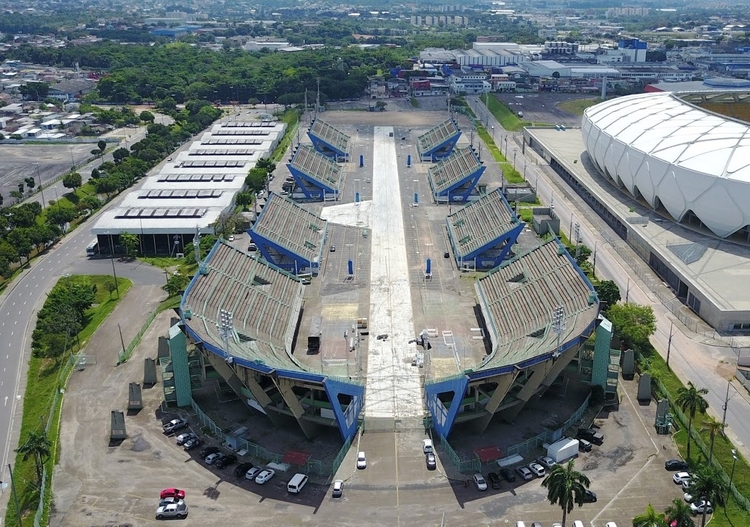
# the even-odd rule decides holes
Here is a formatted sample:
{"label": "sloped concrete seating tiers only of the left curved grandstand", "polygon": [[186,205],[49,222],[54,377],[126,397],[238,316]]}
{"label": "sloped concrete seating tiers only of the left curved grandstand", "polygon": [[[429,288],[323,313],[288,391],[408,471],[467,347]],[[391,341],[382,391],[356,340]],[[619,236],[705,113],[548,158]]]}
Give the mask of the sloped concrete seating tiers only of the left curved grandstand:
{"label": "sloped concrete seating tiers only of the left curved grandstand", "polygon": [[204,342],[225,349],[218,324],[232,314],[228,351],[266,368],[305,370],[292,355],[304,285],[291,275],[217,242],[185,291],[182,311]]}

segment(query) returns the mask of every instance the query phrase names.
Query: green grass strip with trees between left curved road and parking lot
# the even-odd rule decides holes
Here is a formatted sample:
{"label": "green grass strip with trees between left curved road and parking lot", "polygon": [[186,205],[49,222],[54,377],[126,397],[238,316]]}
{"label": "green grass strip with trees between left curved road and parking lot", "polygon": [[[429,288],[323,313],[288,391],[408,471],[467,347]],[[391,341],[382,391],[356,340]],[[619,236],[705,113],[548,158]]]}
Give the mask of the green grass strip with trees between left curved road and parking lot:
{"label": "green grass strip with trees between left curved road and parking lot", "polygon": [[[62,397],[59,395],[61,389],[65,388],[68,376],[72,371],[71,357],[77,353],[86,342],[91,338],[96,329],[115,309],[120,298],[132,286],[132,282],[127,278],[118,278],[117,283],[120,289],[120,297],[116,293],[110,293],[107,283],[111,283],[112,278],[108,275],[74,275],[62,280],[71,280],[73,282],[83,282],[88,280],[89,283],[97,286],[96,298],[94,305],[86,312],[86,325],[78,335],[78,343],[71,339],[71,347],[68,353],[55,362],[54,359],[31,357],[29,361],[29,373],[26,384],[26,393],[24,394],[23,419],[21,421],[21,434],[19,444],[23,444],[25,438],[32,431],[42,429],[47,423],[49,425],[48,438],[52,444],[52,457],[47,460],[47,486],[45,494],[45,515],[49,515],[49,504],[51,503],[50,479],[54,463],[57,460],[59,449],[58,437],[60,434],[58,416],[62,405]],[[18,493],[18,501],[22,511],[23,525],[31,526],[34,524],[34,514],[39,504],[39,488],[36,477],[36,470],[33,459],[29,458],[24,461],[20,455],[16,456],[13,467],[13,477]],[[8,504],[8,510],[5,514],[6,525],[16,525],[17,513],[13,500]],[[46,525],[46,521],[42,522]]]}

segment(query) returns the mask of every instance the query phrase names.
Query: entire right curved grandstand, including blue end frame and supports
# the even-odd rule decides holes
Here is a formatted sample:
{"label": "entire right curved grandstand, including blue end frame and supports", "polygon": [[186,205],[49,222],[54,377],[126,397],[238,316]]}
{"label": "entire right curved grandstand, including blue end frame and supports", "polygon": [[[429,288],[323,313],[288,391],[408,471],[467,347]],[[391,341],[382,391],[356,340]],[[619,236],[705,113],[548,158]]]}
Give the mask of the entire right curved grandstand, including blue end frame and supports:
{"label": "entire right curved grandstand, including blue end frame and supports", "polygon": [[512,421],[543,393],[593,331],[599,300],[559,241],[504,262],[476,283],[491,351],[462,375],[425,384],[435,430],[483,432],[495,414]]}

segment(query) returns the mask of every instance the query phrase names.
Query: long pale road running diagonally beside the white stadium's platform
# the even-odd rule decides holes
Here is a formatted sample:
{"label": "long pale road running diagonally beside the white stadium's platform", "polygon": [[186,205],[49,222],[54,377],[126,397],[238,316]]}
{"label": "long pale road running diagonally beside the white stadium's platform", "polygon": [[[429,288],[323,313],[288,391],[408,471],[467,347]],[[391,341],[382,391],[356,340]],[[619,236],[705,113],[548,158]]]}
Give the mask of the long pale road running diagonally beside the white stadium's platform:
{"label": "long pale road running diagonally beside the white stadium's platform", "polygon": [[[723,406],[727,401],[727,435],[745,458],[750,458],[750,420],[746,418],[750,414],[750,396],[737,383],[728,382],[734,375],[732,365],[736,364],[737,360],[734,350],[728,346],[714,345],[710,339],[689,333],[682,324],[676,322],[659,298],[648,290],[633,270],[623,262],[622,256],[618,253],[619,248],[613,247],[610,243],[610,240],[620,241],[620,238],[604,220],[557,176],[549,165],[543,164],[543,160],[531,149],[526,149],[526,156],[522,156],[520,137],[506,132],[478,101],[478,97],[469,99],[477,116],[482,121],[487,120],[490,126],[494,122],[500,131],[496,131],[498,145],[502,143],[502,148],[511,152],[513,148],[518,148],[516,168],[519,172],[525,172],[526,179],[532,185],[538,186],[537,192],[542,203],[549,205],[554,202],[561,229],[570,234],[571,230],[575,229],[575,224],[579,224],[581,242],[587,247],[596,248],[597,276],[613,280],[620,288],[623,300],[627,296],[630,302],[653,308],[657,330],[651,337],[651,344],[664,358],[667,356],[667,348],[671,349],[670,366],[684,383],[691,381],[698,388],[708,389],[709,393],[705,396],[709,404],[708,413],[721,422],[724,418]],[[526,104],[530,101],[525,100]],[[507,147],[504,142],[506,138]],[[670,346],[669,334],[673,322]]]}

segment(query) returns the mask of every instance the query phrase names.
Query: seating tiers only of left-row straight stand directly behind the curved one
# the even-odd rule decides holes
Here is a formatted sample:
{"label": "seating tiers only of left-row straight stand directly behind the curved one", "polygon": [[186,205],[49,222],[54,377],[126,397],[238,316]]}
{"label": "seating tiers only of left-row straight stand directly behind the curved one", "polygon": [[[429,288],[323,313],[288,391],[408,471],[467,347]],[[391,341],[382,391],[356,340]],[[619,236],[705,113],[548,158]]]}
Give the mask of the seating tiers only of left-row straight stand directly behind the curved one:
{"label": "seating tiers only of left-row straight stand directly behind the curved one", "polygon": [[295,202],[271,193],[252,232],[302,257],[317,262],[327,222]]}

